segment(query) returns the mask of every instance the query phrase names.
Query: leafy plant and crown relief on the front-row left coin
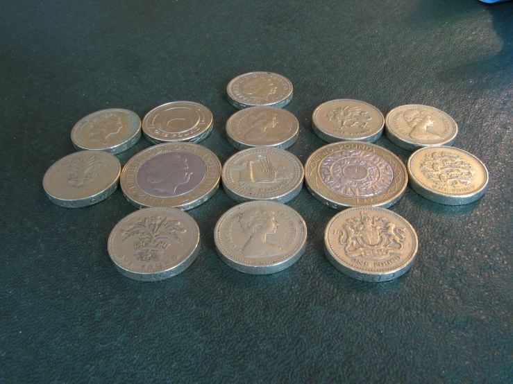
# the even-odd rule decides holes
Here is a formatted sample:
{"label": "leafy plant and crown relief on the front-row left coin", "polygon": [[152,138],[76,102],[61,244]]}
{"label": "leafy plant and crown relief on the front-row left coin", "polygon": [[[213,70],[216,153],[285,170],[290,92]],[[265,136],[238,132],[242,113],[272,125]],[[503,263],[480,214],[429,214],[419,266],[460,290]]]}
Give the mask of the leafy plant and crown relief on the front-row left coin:
{"label": "leafy plant and crown relief on the front-row left coin", "polygon": [[180,227],[178,220],[169,220],[167,217],[162,220],[160,216],[155,215],[132,222],[121,235],[125,236],[123,243],[135,238],[135,259],[148,263],[160,259],[162,250],[169,247],[169,241],[181,244],[179,234],[185,232],[186,229]]}

